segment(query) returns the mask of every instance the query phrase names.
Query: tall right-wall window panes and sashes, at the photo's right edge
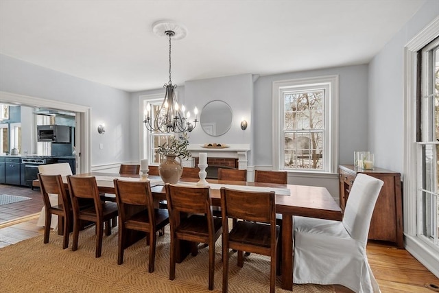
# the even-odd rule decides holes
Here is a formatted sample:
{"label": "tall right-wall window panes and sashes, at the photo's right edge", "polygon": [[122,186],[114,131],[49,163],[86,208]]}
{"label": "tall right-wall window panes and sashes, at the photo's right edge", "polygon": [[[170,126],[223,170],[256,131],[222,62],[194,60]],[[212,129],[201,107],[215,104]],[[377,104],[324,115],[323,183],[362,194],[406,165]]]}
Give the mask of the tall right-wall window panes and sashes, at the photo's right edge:
{"label": "tall right-wall window panes and sashes, at the photo's right edge", "polygon": [[418,89],[418,236],[439,247],[439,38],[423,47]]}

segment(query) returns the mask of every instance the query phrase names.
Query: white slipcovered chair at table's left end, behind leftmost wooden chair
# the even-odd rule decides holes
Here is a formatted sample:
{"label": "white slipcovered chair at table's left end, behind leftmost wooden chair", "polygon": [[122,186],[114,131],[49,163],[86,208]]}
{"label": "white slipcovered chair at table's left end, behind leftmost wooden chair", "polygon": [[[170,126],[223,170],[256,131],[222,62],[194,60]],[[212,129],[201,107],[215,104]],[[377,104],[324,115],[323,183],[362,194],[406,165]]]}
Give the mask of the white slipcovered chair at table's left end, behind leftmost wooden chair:
{"label": "white slipcovered chair at table's left end, behind leftmost wooden chair", "polygon": [[[38,165],[38,172],[43,175],[58,175],[67,176],[72,175],[70,164],[69,163],[56,163],[56,164],[47,164],[47,165]],[[58,194],[49,195],[49,201],[51,205],[58,204]],[[45,225],[45,207],[41,209],[40,218],[38,218],[38,222],[36,222],[36,226],[43,227]],[[52,215],[50,227],[54,229],[54,231],[58,231],[58,215]]]}

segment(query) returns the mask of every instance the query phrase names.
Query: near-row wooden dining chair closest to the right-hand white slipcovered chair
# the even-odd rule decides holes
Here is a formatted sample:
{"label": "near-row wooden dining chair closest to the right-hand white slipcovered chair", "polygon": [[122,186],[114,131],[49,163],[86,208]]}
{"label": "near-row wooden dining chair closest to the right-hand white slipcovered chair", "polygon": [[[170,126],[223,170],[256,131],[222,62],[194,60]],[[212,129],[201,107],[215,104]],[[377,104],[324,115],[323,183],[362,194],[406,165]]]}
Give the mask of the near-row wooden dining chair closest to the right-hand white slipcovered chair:
{"label": "near-row wooden dining chair closest to the right-hand white slipcovered chair", "polygon": [[[276,258],[279,227],[276,226],[274,191],[254,192],[221,188],[222,209],[222,292],[228,291],[229,249],[238,251],[237,265],[244,266],[243,251],[270,257],[270,292],[276,286]],[[238,220],[228,231],[228,218]]]}

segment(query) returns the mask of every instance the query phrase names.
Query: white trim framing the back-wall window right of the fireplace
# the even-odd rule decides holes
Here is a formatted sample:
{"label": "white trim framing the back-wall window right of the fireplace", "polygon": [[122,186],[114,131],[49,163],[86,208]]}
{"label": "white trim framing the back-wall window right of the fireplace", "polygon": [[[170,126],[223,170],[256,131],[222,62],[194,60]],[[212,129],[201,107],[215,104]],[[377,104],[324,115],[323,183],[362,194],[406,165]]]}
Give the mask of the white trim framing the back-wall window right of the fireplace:
{"label": "white trim framing the back-wall window right of the fireplace", "polygon": [[[306,173],[306,174],[335,174],[337,173],[338,166],[338,148],[339,148],[339,75],[327,75],[315,78],[300,78],[294,80],[279,80],[272,84],[272,119],[273,119],[273,143],[272,143],[272,162],[274,169],[279,169],[281,166],[281,119],[283,113],[281,113],[281,99],[280,95],[282,91],[286,89],[294,89],[297,86],[303,86],[304,84],[326,84],[330,83],[331,90],[329,92],[330,99],[324,101],[325,109],[325,128],[327,128],[329,137],[331,137],[331,143],[324,145],[328,150],[324,150],[325,154],[329,154],[331,157],[328,171],[305,171],[305,170],[292,170],[289,172],[294,173]],[[327,115],[329,113],[329,115]]]}

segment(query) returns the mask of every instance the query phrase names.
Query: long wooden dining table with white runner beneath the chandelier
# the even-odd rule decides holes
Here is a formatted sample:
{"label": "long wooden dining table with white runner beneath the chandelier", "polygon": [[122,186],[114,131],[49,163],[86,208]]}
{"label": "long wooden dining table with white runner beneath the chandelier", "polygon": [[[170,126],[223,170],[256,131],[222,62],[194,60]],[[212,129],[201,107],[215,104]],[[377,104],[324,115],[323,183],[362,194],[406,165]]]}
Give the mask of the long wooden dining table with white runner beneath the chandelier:
{"label": "long wooden dining table with white runner beneath the chandelier", "polygon": [[[99,192],[115,194],[115,188],[111,178],[126,178],[135,180],[141,178],[140,175],[128,174],[109,174],[102,172],[91,172],[76,174],[73,176],[95,176]],[[105,178],[105,179],[104,179]],[[166,192],[163,181],[159,176],[150,176],[151,191],[154,200],[165,200]],[[180,183],[196,183],[195,179],[181,179]],[[343,213],[337,202],[329,194],[325,187],[315,187],[306,185],[282,185],[272,183],[253,183],[242,181],[227,180],[207,180],[211,185],[226,185],[226,187],[243,188],[249,187],[270,187],[275,192],[280,189],[288,189],[289,195],[276,192],[276,213],[282,214],[282,288],[292,290],[293,288],[293,215],[300,215],[310,218],[321,218],[328,220],[342,220]],[[161,182],[161,183],[160,183]],[[221,196],[219,189],[211,188],[212,205],[221,206]]]}

